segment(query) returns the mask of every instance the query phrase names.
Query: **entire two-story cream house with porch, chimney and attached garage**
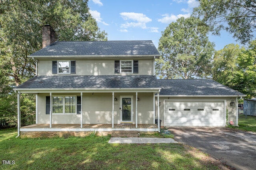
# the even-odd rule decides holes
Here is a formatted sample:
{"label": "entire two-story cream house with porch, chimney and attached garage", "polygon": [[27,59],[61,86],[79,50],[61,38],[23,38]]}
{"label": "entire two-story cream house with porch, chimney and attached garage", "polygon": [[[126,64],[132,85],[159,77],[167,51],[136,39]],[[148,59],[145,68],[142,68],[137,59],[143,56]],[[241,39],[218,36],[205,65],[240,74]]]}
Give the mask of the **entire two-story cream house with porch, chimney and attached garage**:
{"label": "entire two-story cream house with porch, chimney and attached garage", "polygon": [[[54,34],[44,26],[43,48],[29,56],[36,76],[15,88],[18,135],[154,132],[161,120],[163,126],[225,126],[227,109],[237,125],[242,93],[206,79],[158,80],[160,54],[152,41],[58,42]],[[36,95],[35,125],[20,127],[20,93]]]}

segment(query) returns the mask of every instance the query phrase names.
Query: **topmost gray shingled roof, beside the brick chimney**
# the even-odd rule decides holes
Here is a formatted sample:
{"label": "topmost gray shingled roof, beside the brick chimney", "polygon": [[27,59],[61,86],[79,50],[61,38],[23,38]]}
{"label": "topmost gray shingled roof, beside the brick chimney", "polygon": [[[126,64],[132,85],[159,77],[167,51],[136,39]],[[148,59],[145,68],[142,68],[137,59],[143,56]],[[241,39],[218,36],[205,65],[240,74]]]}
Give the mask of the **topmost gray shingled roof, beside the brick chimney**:
{"label": "topmost gray shingled roof, beside the brick chimney", "polygon": [[56,42],[35,53],[40,56],[160,56],[152,41]]}

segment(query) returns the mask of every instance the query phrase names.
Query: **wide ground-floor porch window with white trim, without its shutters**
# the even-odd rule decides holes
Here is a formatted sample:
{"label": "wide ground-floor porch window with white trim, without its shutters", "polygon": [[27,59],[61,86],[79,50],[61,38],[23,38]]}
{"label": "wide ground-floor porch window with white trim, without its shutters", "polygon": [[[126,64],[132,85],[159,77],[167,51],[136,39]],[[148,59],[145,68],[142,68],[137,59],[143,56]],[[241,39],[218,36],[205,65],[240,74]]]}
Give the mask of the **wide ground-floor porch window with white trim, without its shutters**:
{"label": "wide ground-floor porch window with white trim, without its shutters", "polygon": [[52,97],[53,114],[75,114],[76,96],[53,96]]}

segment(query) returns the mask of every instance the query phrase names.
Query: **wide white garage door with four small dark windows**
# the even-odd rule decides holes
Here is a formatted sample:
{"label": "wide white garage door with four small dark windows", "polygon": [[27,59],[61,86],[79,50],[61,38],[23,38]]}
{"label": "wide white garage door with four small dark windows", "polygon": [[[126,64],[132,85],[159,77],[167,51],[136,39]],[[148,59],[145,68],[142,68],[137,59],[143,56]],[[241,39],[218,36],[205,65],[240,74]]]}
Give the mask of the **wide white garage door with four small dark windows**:
{"label": "wide white garage door with four small dark windows", "polygon": [[224,101],[165,101],[164,126],[225,126]]}

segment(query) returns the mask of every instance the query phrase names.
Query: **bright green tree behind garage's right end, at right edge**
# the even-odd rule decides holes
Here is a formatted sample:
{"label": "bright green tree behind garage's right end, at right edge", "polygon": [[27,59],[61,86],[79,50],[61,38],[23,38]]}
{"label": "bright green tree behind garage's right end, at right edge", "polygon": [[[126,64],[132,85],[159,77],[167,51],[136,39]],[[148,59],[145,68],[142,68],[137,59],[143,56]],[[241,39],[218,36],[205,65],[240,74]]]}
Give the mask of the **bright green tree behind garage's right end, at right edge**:
{"label": "bright green tree behind garage's right end, at right edge", "polygon": [[256,96],[256,40],[248,49],[229,44],[214,54],[212,78],[232,89]]}

